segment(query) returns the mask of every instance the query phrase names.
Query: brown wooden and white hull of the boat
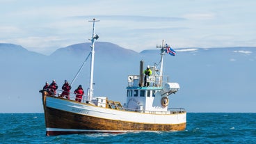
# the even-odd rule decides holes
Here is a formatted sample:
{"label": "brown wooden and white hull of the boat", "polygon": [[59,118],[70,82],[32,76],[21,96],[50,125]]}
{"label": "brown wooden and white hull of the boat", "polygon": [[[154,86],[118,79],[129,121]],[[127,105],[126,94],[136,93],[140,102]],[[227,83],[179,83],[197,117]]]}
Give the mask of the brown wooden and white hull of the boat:
{"label": "brown wooden and white hull of the boat", "polygon": [[106,109],[47,95],[43,95],[42,100],[47,136],[186,129],[186,111],[149,114]]}

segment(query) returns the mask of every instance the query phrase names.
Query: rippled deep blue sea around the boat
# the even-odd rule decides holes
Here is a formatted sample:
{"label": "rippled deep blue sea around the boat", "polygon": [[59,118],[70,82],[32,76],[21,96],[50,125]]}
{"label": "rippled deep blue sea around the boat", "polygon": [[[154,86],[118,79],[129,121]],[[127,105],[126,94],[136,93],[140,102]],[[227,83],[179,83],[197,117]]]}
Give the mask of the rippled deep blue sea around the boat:
{"label": "rippled deep blue sea around the boat", "polygon": [[43,113],[1,113],[0,143],[256,143],[256,113],[187,113],[185,131],[45,136]]}

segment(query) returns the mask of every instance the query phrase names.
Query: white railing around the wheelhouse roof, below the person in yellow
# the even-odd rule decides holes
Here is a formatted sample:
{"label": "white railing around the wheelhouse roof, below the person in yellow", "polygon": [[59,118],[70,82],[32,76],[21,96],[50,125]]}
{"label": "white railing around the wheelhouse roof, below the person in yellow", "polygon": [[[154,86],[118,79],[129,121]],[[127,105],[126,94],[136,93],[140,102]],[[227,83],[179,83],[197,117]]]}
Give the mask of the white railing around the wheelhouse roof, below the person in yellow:
{"label": "white railing around the wheelhouse roof, below the person in yellow", "polygon": [[[128,87],[137,87],[137,86],[143,86],[144,83],[144,77],[141,78],[140,82],[140,76],[139,75],[129,75],[128,76]],[[162,76],[159,77],[158,75],[152,74],[151,76],[147,77],[147,82],[150,83],[150,86],[153,87],[160,87],[162,83],[169,82],[169,76]]]}

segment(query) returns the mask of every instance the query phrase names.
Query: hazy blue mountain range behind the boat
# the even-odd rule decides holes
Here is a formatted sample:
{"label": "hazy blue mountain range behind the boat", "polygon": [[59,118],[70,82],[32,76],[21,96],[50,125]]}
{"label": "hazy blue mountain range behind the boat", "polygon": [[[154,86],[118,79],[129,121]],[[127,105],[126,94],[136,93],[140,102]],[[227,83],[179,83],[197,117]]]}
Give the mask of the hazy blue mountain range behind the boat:
{"label": "hazy blue mountain range behind the boat", "polygon": [[[164,75],[178,82],[180,90],[170,96],[170,107],[188,112],[256,112],[256,47],[179,48],[176,56],[166,54]],[[45,81],[59,88],[72,81],[90,53],[90,43],[70,45],[46,56],[22,46],[0,44],[0,113],[41,113]],[[139,61],[154,65],[159,49],[140,53],[111,42],[95,42],[94,95],[126,100],[127,76],[139,73]],[[74,81],[86,90],[90,61]]]}

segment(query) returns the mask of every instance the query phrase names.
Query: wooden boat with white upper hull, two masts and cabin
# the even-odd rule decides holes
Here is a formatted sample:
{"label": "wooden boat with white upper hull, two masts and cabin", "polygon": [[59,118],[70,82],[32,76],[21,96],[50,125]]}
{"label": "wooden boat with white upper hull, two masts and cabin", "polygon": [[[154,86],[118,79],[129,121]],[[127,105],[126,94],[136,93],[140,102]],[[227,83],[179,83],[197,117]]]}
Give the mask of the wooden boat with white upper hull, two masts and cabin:
{"label": "wooden boat with white upper hull, two masts and cabin", "polygon": [[[177,93],[179,83],[169,82],[163,76],[163,57],[166,53],[164,40],[160,49],[159,65],[152,65],[152,74],[144,79],[144,63],[140,61],[140,74],[127,77],[126,103],[115,102],[109,97],[93,95],[94,43],[93,35],[90,57],[90,88],[83,95],[81,102],[75,100],[74,93],[70,99],[58,97],[48,90],[42,93],[42,105],[45,113],[47,136],[83,133],[126,133],[133,131],[184,131],[186,129],[186,111],[182,108],[169,108],[170,95]],[[86,58],[86,60],[88,59]],[[81,68],[80,68],[81,69]],[[79,72],[78,72],[79,73]],[[76,75],[77,77],[77,75]],[[74,79],[73,79],[74,80]],[[147,86],[143,82],[147,81]]]}

